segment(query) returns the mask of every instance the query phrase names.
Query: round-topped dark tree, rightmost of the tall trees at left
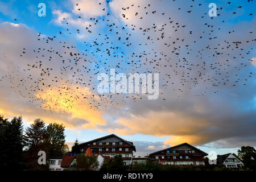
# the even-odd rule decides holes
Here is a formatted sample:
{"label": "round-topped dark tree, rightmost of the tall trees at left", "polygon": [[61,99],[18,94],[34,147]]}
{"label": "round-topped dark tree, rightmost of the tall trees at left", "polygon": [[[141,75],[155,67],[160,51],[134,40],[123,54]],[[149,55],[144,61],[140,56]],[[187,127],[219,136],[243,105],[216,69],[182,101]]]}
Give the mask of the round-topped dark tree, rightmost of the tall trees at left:
{"label": "round-topped dark tree, rightmost of the tall trees at left", "polygon": [[47,126],[49,144],[49,155],[63,155],[67,152],[67,144],[65,144],[65,126],[58,123],[50,123]]}

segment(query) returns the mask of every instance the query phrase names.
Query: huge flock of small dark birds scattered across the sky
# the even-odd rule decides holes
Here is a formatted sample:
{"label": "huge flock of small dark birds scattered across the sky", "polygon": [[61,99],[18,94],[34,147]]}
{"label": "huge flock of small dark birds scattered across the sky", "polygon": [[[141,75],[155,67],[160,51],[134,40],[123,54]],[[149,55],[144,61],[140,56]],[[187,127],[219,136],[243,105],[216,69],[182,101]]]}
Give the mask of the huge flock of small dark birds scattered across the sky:
{"label": "huge flock of small dark birds scattered across the sky", "polygon": [[[177,1],[173,0],[173,3],[178,6]],[[228,6],[232,3],[228,2]],[[253,3],[253,0],[247,3]],[[98,6],[102,4],[98,3]],[[192,0],[186,9],[177,7],[177,12],[190,16],[196,6],[203,7],[202,3]],[[79,3],[76,7],[82,11]],[[209,9],[205,9],[205,13],[198,17],[200,21],[205,19],[205,23],[197,30],[193,30],[191,24],[184,24],[184,19],[177,22],[173,18],[176,15],[156,10],[150,4],[122,7],[121,22],[102,8],[105,15],[89,18],[90,23],[84,28],[74,29],[73,24],[63,18],[65,29],[56,36],[38,34],[37,40],[44,46],[35,45],[33,50],[24,47],[20,52],[22,59],[26,59],[30,52],[36,60],[17,71],[22,72],[23,78],[13,71],[1,76],[0,82],[9,81],[13,84],[11,89],[28,102],[42,102],[40,106],[46,110],[63,112],[83,104],[89,106],[88,110],[95,110],[102,106],[122,105],[122,102],[125,105],[130,101],[147,100],[143,94],[98,94],[97,75],[109,73],[113,68],[117,73],[160,73],[159,99],[162,101],[168,101],[171,94],[182,97],[197,87],[201,88],[201,93],[195,96],[204,96],[210,88],[218,93],[218,88],[246,85],[253,73],[239,73],[253,61],[247,57],[253,49],[250,45],[255,45],[252,43],[256,41],[255,34],[253,30],[244,30],[243,36],[248,39],[242,42],[242,38],[232,36],[236,30],[222,31],[222,27],[228,27],[225,17],[221,16],[223,9],[217,8],[217,17],[209,17]],[[236,15],[241,9],[243,7],[237,5],[229,16]],[[81,15],[77,19],[82,19]],[[131,24],[133,21],[135,23]],[[105,24],[104,31],[97,29],[102,24]],[[81,34],[86,35],[87,40],[82,41],[79,48],[63,41]],[[97,36],[92,40],[92,35]],[[17,78],[18,82],[15,81]],[[90,89],[84,90],[85,87]]]}

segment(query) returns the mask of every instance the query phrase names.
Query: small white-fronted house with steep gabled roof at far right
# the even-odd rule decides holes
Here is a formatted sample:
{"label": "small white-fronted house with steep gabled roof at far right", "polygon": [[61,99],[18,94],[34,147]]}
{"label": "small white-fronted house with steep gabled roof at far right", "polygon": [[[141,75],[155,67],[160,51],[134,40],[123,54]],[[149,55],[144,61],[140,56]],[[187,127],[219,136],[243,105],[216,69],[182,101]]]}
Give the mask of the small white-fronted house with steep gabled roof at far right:
{"label": "small white-fronted house with steep gabled roof at far right", "polygon": [[234,154],[217,155],[217,164],[224,164],[228,168],[241,168],[243,163]]}

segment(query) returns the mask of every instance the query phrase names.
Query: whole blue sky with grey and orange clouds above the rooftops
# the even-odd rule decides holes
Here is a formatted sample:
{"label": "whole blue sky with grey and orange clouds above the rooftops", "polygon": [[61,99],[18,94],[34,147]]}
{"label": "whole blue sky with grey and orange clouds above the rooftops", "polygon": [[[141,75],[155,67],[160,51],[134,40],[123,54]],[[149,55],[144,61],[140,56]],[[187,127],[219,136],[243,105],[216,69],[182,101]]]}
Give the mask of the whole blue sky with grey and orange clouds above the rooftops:
{"label": "whole blue sky with grey and orange clouds above the rooftops", "polygon": [[[114,133],[137,156],[184,142],[217,154],[256,146],[255,5],[0,1],[0,114],[63,123],[69,146]],[[159,98],[99,94],[110,69],[159,73]]]}

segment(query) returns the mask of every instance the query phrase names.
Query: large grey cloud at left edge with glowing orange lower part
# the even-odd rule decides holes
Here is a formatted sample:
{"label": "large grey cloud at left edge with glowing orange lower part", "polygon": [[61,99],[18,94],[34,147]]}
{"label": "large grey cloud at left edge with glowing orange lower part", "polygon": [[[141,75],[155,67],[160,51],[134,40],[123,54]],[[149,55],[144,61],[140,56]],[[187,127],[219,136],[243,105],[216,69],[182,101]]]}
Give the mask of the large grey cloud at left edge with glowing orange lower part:
{"label": "large grey cloud at left edge with glowing orange lower part", "polygon": [[[53,42],[48,45],[38,41],[38,33],[24,24],[2,23],[0,27],[0,114],[5,117],[22,115],[27,122],[42,118],[47,123],[64,123],[73,130],[82,125],[105,125],[101,111],[92,106],[92,102],[100,98],[93,96],[88,86],[73,84],[69,81],[69,74],[61,73],[59,61],[68,60],[68,57],[54,57],[54,62],[42,61],[42,57],[33,53],[51,47],[55,48],[53,51],[63,52],[60,44]],[[50,57],[47,52],[41,56]],[[40,60],[41,64],[35,66]],[[54,72],[48,72],[49,68]],[[43,76],[47,72],[48,77]],[[56,84],[53,84],[53,79]]]}

